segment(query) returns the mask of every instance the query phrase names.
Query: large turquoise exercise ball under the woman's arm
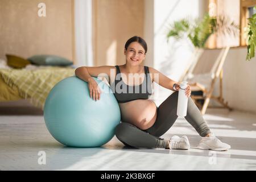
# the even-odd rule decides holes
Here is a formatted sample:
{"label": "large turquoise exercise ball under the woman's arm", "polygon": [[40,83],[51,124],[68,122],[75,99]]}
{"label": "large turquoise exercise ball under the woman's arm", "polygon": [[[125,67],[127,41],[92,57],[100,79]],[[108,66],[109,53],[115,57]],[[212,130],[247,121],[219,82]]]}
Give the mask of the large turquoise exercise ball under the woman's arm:
{"label": "large turquoise exercise ball under the woman's arm", "polygon": [[52,137],[65,146],[102,146],[114,137],[115,126],[121,121],[112,90],[93,78],[102,90],[100,100],[90,98],[88,83],[76,76],[58,82],[47,96],[44,121]]}

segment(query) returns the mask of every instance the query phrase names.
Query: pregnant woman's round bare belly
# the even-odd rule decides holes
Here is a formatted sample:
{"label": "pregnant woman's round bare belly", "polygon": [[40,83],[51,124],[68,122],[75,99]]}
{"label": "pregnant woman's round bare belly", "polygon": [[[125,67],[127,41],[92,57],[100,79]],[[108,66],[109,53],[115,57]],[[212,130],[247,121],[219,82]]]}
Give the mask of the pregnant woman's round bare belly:
{"label": "pregnant woman's round bare belly", "polygon": [[152,100],[134,100],[119,103],[123,122],[131,123],[141,130],[146,130],[154,125],[157,107]]}

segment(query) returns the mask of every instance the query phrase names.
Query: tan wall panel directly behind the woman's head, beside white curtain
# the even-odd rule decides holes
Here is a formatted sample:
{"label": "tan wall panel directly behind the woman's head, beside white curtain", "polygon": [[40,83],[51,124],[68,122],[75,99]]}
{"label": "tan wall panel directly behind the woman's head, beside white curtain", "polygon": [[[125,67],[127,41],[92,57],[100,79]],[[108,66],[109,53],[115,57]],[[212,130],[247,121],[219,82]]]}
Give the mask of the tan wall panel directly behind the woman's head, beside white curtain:
{"label": "tan wall panel directly behind the woman's head, beside white curtain", "polygon": [[93,1],[93,52],[95,65],[124,64],[127,39],[143,37],[143,0]]}

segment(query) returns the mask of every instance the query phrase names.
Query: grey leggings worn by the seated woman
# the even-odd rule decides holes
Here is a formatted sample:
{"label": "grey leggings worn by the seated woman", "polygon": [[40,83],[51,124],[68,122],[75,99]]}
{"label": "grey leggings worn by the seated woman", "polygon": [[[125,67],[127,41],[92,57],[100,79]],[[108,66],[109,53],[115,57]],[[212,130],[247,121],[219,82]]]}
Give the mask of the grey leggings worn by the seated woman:
{"label": "grey leggings worn by the seated woman", "polygon": [[[145,148],[168,148],[168,140],[159,138],[166,133],[177,119],[177,98],[179,92],[174,92],[158,107],[156,121],[147,130],[141,130],[130,123],[121,122],[115,128],[116,137],[126,146]],[[185,119],[196,129],[201,137],[210,133],[200,110],[188,98],[188,109]]]}

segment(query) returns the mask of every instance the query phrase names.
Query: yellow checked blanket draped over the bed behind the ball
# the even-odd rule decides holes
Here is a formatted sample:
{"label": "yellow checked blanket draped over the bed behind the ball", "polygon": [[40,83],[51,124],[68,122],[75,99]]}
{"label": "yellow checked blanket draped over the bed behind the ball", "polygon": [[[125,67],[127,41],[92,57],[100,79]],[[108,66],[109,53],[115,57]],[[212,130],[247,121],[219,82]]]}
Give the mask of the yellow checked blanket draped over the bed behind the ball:
{"label": "yellow checked blanket draped over the bed behind the ball", "polygon": [[74,68],[47,67],[35,70],[0,69],[0,76],[11,88],[18,88],[22,98],[43,109],[53,86],[66,77],[75,75]]}

